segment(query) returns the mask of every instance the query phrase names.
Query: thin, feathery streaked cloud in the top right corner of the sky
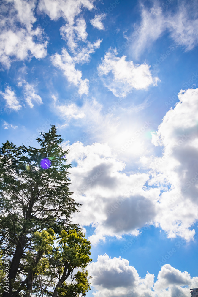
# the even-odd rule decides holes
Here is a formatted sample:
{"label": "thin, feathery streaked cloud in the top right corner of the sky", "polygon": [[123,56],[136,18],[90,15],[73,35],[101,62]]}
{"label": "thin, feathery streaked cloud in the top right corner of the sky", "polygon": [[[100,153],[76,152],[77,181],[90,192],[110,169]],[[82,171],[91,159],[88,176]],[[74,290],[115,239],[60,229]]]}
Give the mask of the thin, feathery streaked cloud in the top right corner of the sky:
{"label": "thin, feathery streaked cloud in the top right corner of the sky", "polygon": [[185,51],[193,49],[198,43],[198,19],[196,1],[178,2],[175,13],[166,12],[156,2],[151,8],[144,5],[140,26],[135,28],[133,37],[136,39],[133,50],[136,56],[142,53],[157,40],[166,30],[176,45]]}

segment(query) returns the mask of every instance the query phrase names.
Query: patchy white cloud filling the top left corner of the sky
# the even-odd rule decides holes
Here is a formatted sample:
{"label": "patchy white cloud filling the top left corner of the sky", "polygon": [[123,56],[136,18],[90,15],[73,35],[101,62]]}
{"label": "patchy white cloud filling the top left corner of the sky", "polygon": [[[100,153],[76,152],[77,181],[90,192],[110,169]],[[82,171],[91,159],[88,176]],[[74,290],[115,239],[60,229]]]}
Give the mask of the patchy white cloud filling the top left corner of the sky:
{"label": "patchy white cloud filling the top left corner of the sky", "polygon": [[34,0],[1,1],[0,62],[7,69],[12,61],[40,59],[47,54],[43,29],[33,29],[35,7]]}

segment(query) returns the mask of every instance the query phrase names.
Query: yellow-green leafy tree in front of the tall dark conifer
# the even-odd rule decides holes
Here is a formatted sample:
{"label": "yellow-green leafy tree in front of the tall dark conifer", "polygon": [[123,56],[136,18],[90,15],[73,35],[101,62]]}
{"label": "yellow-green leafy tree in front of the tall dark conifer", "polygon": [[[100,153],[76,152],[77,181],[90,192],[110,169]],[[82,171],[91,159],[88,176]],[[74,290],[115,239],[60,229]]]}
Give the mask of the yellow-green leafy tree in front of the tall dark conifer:
{"label": "yellow-green leafy tree in front of the tall dark conifer", "polygon": [[[52,229],[42,230],[42,232],[34,233],[34,250],[27,252],[26,266],[24,271],[31,270],[34,274],[33,292],[36,292],[38,285],[38,275],[45,275],[45,280],[42,281],[42,287],[56,275],[59,271],[60,280],[64,279],[60,287],[57,287],[58,296],[85,296],[86,292],[90,290],[88,271],[84,271],[88,263],[91,262],[90,241],[84,238],[81,231],[75,229],[62,230],[59,234],[58,246],[55,248],[53,244],[56,240]],[[73,277],[72,272],[75,269],[81,269]],[[63,277],[65,271],[65,277]],[[66,283],[65,280],[71,276],[71,283]],[[54,282],[48,285],[53,290]],[[53,291],[51,291],[53,293]],[[44,294],[44,295],[45,295]]]}

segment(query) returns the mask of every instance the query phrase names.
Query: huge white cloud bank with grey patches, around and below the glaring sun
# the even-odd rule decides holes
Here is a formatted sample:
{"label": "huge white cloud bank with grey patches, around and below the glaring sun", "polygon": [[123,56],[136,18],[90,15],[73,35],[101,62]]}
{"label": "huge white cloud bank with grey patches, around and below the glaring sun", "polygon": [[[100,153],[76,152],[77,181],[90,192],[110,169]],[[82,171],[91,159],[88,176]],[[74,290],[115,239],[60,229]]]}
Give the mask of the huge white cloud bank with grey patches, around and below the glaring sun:
{"label": "huge white cloud bank with grey patches, around and below the glaring sun", "polygon": [[[158,131],[153,133],[152,142],[162,146],[162,157],[151,155],[155,151],[149,148],[151,140],[145,140],[143,125],[139,129],[133,127],[134,141],[127,140],[125,126],[119,127],[119,119],[113,115],[102,116],[102,105],[96,100],[80,108],[71,103],[68,107],[58,105],[62,118],[76,118],[75,125],[88,132],[92,143],[94,135],[101,140],[87,146],[75,142],[69,153],[69,162],[77,164],[71,169],[71,190],[83,204],[74,219],[83,226],[95,227],[90,237],[93,244],[107,236],[137,235],[145,224],[161,227],[170,238],[193,238],[192,226],[198,219],[197,95],[198,89],[181,91],[180,102],[167,112]],[[146,127],[149,129],[149,123]],[[127,164],[136,162],[135,166],[139,164],[145,173],[125,171],[123,155],[111,149],[113,138]]]}

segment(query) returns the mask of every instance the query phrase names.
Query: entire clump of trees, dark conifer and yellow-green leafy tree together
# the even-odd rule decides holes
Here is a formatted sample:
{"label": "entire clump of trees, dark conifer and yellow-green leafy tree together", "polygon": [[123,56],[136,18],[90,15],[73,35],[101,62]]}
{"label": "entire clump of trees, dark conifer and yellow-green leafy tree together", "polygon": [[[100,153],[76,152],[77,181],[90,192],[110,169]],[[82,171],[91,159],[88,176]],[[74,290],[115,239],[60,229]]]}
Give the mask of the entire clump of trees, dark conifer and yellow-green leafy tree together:
{"label": "entire clump of trees, dark conifer and yellow-green leafy tree together", "polygon": [[[10,293],[7,296],[14,292],[17,297],[29,296],[31,291],[35,295],[38,276],[44,276],[42,287],[47,285],[44,296],[50,296],[48,289],[54,290],[55,286],[57,290],[66,286],[70,295],[65,296],[84,296],[90,286],[84,272],[91,261],[90,242],[78,225],[70,225],[71,216],[79,211],[80,204],[69,191],[71,165],[62,158],[68,154],[61,147],[63,140],[53,125],[37,138],[37,148],[17,147],[9,141],[0,148],[1,245],[4,230],[9,227]],[[50,168],[41,167],[43,158],[50,159]],[[83,272],[75,274],[74,283],[66,284],[74,269]],[[2,276],[0,273],[1,284]],[[72,285],[76,287],[70,288]],[[72,290],[81,295],[71,295]]]}

